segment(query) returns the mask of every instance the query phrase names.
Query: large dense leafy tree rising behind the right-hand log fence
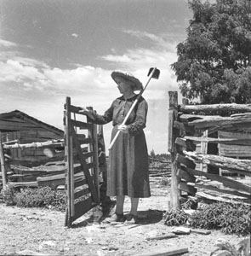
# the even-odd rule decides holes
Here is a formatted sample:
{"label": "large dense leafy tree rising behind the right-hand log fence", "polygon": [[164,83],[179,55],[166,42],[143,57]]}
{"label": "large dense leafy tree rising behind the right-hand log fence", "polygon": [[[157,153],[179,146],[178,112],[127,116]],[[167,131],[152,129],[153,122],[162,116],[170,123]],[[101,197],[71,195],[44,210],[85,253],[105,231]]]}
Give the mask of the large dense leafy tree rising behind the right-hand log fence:
{"label": "large dense leafy tree rising behind the right-hand log fence", "polygon": [[251,102],[251,0],[189,0],[193,19],[171,67],[181,94],[202,103]]}

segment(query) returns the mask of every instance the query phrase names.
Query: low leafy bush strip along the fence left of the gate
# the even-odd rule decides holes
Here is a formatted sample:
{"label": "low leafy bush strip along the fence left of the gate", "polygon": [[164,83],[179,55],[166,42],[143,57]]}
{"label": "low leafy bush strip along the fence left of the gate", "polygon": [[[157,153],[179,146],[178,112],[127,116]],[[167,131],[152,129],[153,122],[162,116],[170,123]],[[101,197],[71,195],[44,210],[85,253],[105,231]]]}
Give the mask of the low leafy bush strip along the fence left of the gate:
{"label": "low leafy bush strip along the fence left of the gate", "polygon": [[14,192],[8,188],[2,192],[3,200],[7,205],[18,207],[45,207],[57,211],[66,210],[66,192],[43,187],[38,189],[21,189]]}

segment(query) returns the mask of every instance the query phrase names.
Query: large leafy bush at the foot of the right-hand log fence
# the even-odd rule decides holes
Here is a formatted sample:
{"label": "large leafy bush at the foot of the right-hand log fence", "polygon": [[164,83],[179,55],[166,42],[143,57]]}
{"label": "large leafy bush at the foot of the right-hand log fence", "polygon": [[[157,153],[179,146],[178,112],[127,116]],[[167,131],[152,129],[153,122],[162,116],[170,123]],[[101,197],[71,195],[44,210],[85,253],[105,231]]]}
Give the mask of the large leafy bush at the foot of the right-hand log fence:
{"label": "large leafy bush at the foot of the right-hand log fence", "polygon": [[189,223],[194,228],[247,236],[251,230],[251,207],[217,202],[193,213]]}

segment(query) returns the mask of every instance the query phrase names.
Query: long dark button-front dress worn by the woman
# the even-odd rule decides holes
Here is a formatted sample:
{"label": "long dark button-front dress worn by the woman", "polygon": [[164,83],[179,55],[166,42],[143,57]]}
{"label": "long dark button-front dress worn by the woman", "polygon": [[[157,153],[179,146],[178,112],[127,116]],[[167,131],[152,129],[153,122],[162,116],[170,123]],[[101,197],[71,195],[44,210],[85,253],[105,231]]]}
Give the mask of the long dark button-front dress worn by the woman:
{"label": "long dark button-front dress worn by the woman", "polygon": [[[112,120],[111,140],[117,133],[117,125],[123,119],[137,96],[125,99],[123,96],[112,102],[104,115],[92,112],[93,121],[104,125]],[[126,122],[128,133],[120,132],[116,143],[110,150],[107,172],[107,195],[128,195],[130,197],[149,197],[148,152],[145,142],[147,102],[140,96],[134,110]]]}

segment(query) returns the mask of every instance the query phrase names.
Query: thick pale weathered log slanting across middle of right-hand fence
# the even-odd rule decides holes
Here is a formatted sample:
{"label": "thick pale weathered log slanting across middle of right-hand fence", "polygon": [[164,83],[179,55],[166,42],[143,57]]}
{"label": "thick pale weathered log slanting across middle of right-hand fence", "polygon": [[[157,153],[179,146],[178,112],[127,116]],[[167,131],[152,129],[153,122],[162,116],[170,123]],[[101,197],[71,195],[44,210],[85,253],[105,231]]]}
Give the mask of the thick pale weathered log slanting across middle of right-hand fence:
{"label": "thick pale weathered log slanting across middle of right-hand fence", "polygon": [[199,154],[196,152],[183,151],[190,160],[196,160],[199,163],[212,165],[227,169],[230,172],[237,172],[243,175],[251,176],[251,160],[238,160],[229,157],[214,154]]}

